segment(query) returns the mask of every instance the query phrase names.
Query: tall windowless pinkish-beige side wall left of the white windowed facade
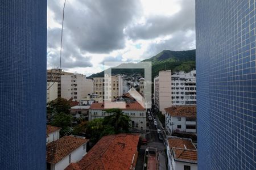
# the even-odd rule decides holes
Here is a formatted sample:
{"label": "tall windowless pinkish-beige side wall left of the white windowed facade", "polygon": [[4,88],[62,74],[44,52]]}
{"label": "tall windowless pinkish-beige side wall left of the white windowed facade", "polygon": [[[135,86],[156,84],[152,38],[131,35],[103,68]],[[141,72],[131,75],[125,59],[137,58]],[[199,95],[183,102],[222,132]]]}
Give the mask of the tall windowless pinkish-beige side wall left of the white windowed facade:
{"label": "tall windowless pinkish-beige side wall left of the white windowed facade", "polygon": [[164,114],[164,108],[171,106],[171,70],[159,71],[154,78],[155,107]]}

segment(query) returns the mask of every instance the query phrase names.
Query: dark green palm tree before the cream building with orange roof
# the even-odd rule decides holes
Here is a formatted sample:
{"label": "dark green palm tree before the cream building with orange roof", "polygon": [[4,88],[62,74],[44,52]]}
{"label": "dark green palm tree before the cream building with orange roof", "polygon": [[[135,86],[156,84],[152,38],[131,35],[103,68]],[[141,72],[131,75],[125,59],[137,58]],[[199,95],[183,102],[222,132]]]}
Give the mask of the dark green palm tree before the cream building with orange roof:
{"label": "dark green palm tree before the cream building with orange roof", "polygon": [[129,131],[129,121],[131,119],[129,116],[123,114],[121,109],[107,109],[106,112],[112,114],[104,118],[105,125],[113,126],[115,133]]}

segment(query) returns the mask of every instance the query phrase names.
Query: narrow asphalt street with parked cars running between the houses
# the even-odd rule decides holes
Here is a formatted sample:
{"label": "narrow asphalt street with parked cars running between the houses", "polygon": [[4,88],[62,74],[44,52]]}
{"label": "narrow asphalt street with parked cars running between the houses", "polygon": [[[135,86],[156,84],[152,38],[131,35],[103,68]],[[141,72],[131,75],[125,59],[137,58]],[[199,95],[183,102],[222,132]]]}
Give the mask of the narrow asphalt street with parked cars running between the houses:
{"label": "narrow asphalt street with parked cars running between the houses", "polygon": [[[151,113],[151,116],[154,118],[156,115]],[[148,117],[148,115],[147,115]],[[156,120],[158,121],[158,120]],[[159,122],[159,121],[158,121]],[[147,142],[147,145],[142,145],[140,150],[139,150],[139,157],[136,165],[136,170],[143,169],[143,159],[144,159],[144,151],[146,150],[147,147],[154,147],[157,148],[158,154],[159,154],[159,170],[166,170],[166,154],[164,153],[164,142],[160,141],[158,137],[158,131],[156,129],[156,126],[154,125],[154,120],[148,120],[148,126],[150,129],[150,140]],[[162,128],[160,128],[159,123],[157,125],[158,129],[161,129],[162,133]],[[142,159],[142,160],[141,160]]]}

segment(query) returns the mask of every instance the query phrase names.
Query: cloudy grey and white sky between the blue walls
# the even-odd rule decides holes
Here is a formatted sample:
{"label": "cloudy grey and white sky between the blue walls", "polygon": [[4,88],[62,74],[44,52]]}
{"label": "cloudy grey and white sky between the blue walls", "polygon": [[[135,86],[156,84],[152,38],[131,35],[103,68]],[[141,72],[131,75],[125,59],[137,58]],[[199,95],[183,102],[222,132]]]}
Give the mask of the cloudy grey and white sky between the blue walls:
{"label": "cloudy grey and white sky between the blue walls", "polygon": [[[48,0],[47,69],[60,65],[64,0]],[[104,61],[195,49],[195,0],[67,0],[61,69],[90,75]]]}

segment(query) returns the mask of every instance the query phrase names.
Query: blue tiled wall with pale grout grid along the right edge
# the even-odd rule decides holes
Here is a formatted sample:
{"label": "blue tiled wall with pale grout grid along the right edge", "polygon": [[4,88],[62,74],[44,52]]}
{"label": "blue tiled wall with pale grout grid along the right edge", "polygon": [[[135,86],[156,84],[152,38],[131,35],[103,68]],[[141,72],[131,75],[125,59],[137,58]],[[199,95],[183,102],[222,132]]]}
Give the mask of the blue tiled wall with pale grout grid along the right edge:
{"label": "blue tiled wall with pale grout grid along the right edge", "polygon": [[199,169],[256,169],[255,1],[196,0]]}

